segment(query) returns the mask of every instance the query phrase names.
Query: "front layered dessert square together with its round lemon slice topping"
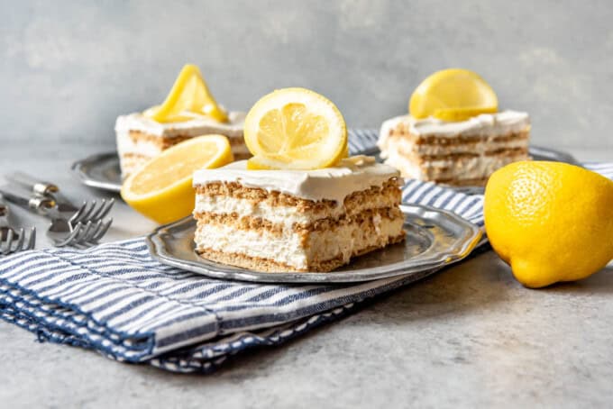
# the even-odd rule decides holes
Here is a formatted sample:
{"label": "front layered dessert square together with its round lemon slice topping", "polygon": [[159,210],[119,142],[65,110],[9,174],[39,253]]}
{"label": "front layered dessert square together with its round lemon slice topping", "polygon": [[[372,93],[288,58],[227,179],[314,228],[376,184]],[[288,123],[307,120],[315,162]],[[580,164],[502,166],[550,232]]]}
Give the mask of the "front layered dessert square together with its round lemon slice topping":
{"label": "front layered dessert square together with its round lemon slice topping", "polygon": [[194,175],[197,252],[265,272],[327,272],[405,240],[398,170],[347,156],[343,116],[303,88],[266,95],[245,120],[254,157]]}

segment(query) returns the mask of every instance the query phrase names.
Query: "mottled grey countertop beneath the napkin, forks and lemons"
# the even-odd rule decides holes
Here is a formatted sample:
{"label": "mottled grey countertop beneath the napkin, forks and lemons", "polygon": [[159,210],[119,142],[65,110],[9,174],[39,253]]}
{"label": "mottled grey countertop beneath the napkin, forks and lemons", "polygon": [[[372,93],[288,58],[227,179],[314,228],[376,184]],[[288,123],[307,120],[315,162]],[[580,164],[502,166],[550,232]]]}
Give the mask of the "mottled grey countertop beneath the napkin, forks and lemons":
{"label": "mottled grey countertop beneath the napkin, forks and lemons", "polygon": [[[74,159],[106,146],[12,146],[0,176],[21,169],[79,186]],[[578,159],[610,152],[573,150]],[[44,222],[14,212],[23,224]],[[154,224],[123,203],[105,241]],[[38,246],[44,246],[40,234]],[[609,406],[613,401],[613,268],[529,290],[492,251],[382,296],[336,323],[248,352],[208,376],[177,375],[51,343],[0,322],[3,407]]]}

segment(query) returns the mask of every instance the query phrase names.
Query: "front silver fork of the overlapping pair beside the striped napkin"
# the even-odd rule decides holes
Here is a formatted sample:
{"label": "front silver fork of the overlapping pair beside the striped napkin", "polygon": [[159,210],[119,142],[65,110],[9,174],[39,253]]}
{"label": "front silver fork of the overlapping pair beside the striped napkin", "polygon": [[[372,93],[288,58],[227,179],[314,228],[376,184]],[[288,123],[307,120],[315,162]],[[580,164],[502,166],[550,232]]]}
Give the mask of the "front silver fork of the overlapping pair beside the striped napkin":
{"label": "front silver fork of the overlapping pair beside the striped napkin", "polygon": [[[62,216],[57,204],[50,197],[25,194],[10,186],[2,187],[0,193],[14,204],[48,218],[51,223],[47,230],[47,237],[55,247],[91,247],[102,239],[113,223],[113,219],[109,219],[106,222],[98,220],[87,223],[78,222],[73,225]],[[83,207],[85,204],[78,210],[82,210]]]}

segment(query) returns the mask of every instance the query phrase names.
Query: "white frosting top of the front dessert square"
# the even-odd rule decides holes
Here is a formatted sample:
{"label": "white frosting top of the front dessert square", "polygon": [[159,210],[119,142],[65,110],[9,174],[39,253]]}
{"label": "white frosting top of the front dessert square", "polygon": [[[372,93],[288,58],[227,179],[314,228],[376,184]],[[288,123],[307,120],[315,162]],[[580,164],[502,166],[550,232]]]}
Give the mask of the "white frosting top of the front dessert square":
{"label": "white frosting top of the front dessert square", "polygon": [[347,195],[382,186],[397,169],[376,163],[368,156],[343,159],[334,168],[315,170],[247,170],[247,161],[233,162],[223,168],[202,169],[194,174],[194,186],[212,182],[238,182],[242,186],[278,191],[307,200],[334,200],[342,204]]}

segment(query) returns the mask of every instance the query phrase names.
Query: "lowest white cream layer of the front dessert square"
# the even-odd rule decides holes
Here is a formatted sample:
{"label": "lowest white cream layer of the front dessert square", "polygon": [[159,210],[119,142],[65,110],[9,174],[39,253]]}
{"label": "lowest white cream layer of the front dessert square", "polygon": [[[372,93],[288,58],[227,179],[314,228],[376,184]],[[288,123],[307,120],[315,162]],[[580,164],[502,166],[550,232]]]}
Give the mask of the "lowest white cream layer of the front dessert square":
{"label": "lowest white cream layer of the front dessert square", "polygon": [[397,237],[402,233],[404,218],[395,220],[373,218],[377,234],[361,232],[360,225],[350,223],[333,231],[313,232],[309,245],[303,247],[302,236],[294,232],[280,235],[270,232],[235,230],[231,226],[206,224],[198,228],[195,241],[200,249],[213,249],[224,253],[244,254],[249,257],[273,259],[295,268],[306,269],[308,261],[327,261],[343,255],[345,262],[352,253],[380,244],[381,238]]}

